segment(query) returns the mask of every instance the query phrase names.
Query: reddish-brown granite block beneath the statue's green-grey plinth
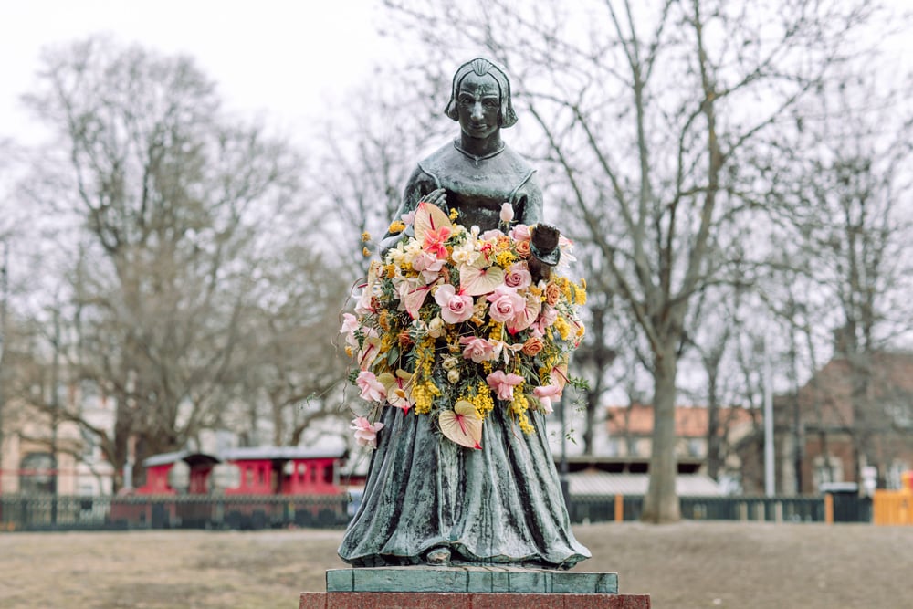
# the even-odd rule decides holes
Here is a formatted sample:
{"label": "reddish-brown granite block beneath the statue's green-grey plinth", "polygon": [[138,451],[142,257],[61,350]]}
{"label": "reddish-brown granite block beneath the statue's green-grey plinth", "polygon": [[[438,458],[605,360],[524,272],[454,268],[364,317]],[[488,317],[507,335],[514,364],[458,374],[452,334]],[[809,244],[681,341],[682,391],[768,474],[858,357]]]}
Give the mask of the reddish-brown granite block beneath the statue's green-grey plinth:
{"label": "reddish-brown granite block beneath the statue's green-grey plinth", "polygon": [[299,609],[650,609],[645,594],[301,593]]}

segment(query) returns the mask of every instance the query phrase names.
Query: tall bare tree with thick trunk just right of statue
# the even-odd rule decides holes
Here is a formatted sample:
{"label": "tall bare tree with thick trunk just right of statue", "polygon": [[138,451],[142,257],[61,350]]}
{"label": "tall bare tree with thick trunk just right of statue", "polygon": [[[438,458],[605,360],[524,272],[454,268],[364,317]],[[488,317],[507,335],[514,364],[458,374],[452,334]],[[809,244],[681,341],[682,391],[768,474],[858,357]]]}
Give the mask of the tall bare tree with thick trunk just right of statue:
{"label": "tall bare tree with thick trunk just right of statue", "polygon": [[732,226],[750,226],[761,202],[743,162],[855,52],[866,10],[811,0],[593,2],[573,14],[495,0],[388,5],[407,35],[438,34],[435,60],[483,48],[517,78],[541,154],[585,227],[576,236],[598,247],[649,344],[656,424],[643,519],[677,520],[677,366],[695,294],[732,279]]}

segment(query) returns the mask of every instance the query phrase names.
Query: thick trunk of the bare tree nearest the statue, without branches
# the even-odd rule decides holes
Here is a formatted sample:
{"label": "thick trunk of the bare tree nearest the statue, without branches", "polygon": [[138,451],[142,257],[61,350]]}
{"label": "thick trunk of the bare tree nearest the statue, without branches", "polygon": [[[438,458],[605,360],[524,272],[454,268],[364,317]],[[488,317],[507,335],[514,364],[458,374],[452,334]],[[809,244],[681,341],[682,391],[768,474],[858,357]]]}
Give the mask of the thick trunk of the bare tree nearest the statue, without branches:
{"label": "thick trunk of the bare tree nearest the statue, without branches", "polygon": [[655,524],[681,520],[676,493],[676,375],[677,352],[672,341],[656,353],[653,367],[653,450],[650,457],[650,486],[644,498],[641,520]]}

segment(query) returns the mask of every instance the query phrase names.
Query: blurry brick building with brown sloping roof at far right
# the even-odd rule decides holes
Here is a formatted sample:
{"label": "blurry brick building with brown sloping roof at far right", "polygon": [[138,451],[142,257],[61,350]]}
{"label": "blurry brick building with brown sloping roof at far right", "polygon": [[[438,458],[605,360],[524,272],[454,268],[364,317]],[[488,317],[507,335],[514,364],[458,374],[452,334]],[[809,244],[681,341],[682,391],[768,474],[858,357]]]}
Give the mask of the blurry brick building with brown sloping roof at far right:
{"label": "blurry brick building with brown sloping roof at far right", "polygon": [[[900,488],[913,469],[913,353],[855,360],[838,353],[798,393],[777,396],[774,411],[778,492],[817,493],[841,482]],[[761,442],[756,436],[743,446],[754,468],[746,478],[759,478],[750,453]]]}

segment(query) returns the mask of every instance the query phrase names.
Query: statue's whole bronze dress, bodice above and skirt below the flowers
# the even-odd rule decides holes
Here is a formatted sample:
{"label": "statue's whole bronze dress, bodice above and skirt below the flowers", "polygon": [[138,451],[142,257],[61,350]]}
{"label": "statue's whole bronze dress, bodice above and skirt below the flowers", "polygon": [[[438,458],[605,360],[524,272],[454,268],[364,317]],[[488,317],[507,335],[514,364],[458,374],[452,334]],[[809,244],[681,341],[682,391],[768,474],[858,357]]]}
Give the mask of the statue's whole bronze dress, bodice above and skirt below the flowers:
{"label": "statue's whole bronze dress, bodice above and skirt below the flowers", "polygon": [[[400,213],[439,186],[465,226],[497,226],[505,201],[520,222],[541,219],[532,170],[509,149],[477,160],[448,144],[419,163]],[[481,450],[473,450],[441,436],[433,417],[385,407],[362,504],[339,549],[342,560],[416,564],[439,547],[451,551],[454,563],[570,568],[589,558],[571,530],[545,418],[529,415],[530,435],[496,405],[483,425]]]}

